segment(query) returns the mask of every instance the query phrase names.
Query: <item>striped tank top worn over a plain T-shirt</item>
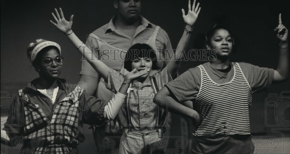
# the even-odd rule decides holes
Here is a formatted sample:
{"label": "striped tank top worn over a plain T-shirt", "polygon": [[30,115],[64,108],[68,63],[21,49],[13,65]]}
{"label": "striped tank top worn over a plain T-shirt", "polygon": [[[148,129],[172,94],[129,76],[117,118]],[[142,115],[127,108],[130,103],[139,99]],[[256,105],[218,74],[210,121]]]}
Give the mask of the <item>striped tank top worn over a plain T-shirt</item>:
{"label": "striped tank top worn over a plain T-shirt", "polygon": [[202,65],[201,86],[195,110],[203,121],[194,136],[250,134],[249,112],[252,90],[238,63],[232,63],[234,76],[224,84],[215,83]]}

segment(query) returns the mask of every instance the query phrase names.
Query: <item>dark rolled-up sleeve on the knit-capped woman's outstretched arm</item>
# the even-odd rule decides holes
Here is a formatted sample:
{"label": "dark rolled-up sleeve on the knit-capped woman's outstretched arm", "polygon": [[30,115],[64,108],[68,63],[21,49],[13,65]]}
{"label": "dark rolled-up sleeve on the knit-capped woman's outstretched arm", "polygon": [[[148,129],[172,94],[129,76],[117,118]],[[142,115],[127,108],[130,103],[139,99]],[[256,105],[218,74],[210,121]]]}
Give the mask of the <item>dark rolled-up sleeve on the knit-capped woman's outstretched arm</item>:
{"label": "dark rolled-up sleeve on the knit-capped woman's outstretched arm", "polygon": [[108,102],[86,94],[84,91],[80,96],[80,102],[84,103],[82,120],[89,125],[104,124],[104,109]]}

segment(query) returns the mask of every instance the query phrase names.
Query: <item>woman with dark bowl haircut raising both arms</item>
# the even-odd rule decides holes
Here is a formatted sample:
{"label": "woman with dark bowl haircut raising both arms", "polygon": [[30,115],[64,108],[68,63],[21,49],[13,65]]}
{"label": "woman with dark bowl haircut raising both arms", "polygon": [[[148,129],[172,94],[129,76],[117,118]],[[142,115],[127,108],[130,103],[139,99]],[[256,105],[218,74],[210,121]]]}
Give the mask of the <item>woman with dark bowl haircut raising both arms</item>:
{"label": "woman with dark bowl haircut raising both arms", "polygon": [[[123,93],[126,94],[123,96],[123,104],[114,104],[110,114],[104,114],[106,118],[112,120],[121,111],[119,117],[123,127],[123,135],[120,149],[123,152],[155,153],[163,150],[158,149],[156,146],[158,138],[164,133],[164,130],[161,129],[162,127],[157,126],[165,125],[165,121],[160,119],[161,117],[159,117],[159,112],[157,111],[158,106],[153,102],[153,97],[158,89],[161,89],[164,84],[172,80],[171,76],[176,74],[180,66],[180,54],[187,46],[193,24],[199,12],[199,3],[195,7],[195,1],[192,7],[189,1],[189,12],[187,15],[185,15],[182,9],[186,27],[175,52],[176,56],[174,57],[177,57],[177,60],[171,60],[164,69],[158,72],[156,55],[152,47],[148,44],[137,43],[127,51],[124,68],[122,68],[120,73],[109,68],[102,61],[98,60],[95,55],[89,54],[92,51],[71,30],[73,15],[70,17],[70,21],[66,21],[61,9],[60,14],[55,9],[56,16],[52,13],[56,21],[56,23],[51,21],[52,24],[68,36],[78,51],[105,79],[108,83],[107,88],[113,92],[116,92],[119,88],[120,90],[128,90],[128,92]],[[135,79],[127,78],[129,71],[131,71],[130,73],[139,74],[140,77]],[[152,71],[158,73],[151,73]],[[150,76],[149,74],[154,75]],[[197,113],[196,115],[198,117]],[[128,145],[128,140],[132,143],[131,146]]]}

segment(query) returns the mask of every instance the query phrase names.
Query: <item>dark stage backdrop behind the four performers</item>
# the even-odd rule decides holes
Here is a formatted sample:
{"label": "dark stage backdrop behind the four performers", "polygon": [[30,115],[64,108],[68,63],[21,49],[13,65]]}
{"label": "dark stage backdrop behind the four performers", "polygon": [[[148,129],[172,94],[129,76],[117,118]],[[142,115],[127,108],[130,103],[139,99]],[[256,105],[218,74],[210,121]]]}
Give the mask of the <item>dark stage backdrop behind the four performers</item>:
{"label": "dark stage backdrop behind the four performers", "polygon": [[[278,25],[279,13],[282,13],[282,24],[289,29],[289,1],[199,0],[198,2],[201,3],[202,10],[195,23],[188,49],[205,49],[204,34],[215,23],[224,23],[231,27],[235,39],[232,62],[277,67],[279,42],[273,29]],[[184,8],[187,12],[187,3],[187,0],[142,1],[141,15],[168,33],[173,49],[176,48],[184,30],[181,9]],[[21,2],[1,0],[1,91],[7,91],[12,96],[19,88],[24,88],[29,81],[38,77],[26,55],[28,44],[37,38],[51,40],[61,46],[65,60],[60,77],[66,78],[68,83],[78,82],[81,55],[68,38],[49,21],[53,20],[51,12],[59,7],[63,9],[67,20],[71,14],[75,15],[72,29],[83,42],[86,41],[88,34],[108,23],[115,14],[113,0]],[[184,61],[180,72],[202,63],[204,61]],[[273,127],[265,126],[265,115],[273,114],[274,109],[265,112],[267,108],[265,99],[270,93],[279,96],[282,91],[290,91],[289,85],[288,79],[283,83],[272,84],[267,92],[253,95],[252,133],[272,133]],[[289,107],[284,115],[289,120]],[[176,117],[178,116],[174,116],[173,120],[177,120]],[[274,116],[271,118],[275,120]]]}

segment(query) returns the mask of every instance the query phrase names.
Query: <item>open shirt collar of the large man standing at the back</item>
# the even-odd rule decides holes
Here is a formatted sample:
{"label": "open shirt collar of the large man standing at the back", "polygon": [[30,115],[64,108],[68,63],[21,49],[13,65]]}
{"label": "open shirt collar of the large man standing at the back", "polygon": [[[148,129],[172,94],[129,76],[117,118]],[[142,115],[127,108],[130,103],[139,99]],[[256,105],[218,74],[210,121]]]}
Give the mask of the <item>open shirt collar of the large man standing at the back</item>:
{"label": "open shirt collar of the large man standing at the back", "polygon": [[[116,27],[114,25],[115,20],[116,20],[116,15],[113,16],[113,18],[108,23],[108,25],[106,27],[106,30],[105,30],[105,34],[109,33],[109,32],[112,32],[112,31],[117,32],[117,29],[116,29]],[[136,32],[137,31],[138,32],[136,34],[140,33],[144,29],[146,29],[146,27],[153,28],[152,24],[146,18],[144,18],[143,16],[140,16],[140,21],[141,21],[141,25],[139,25],[139,27],[137,28]]]}

